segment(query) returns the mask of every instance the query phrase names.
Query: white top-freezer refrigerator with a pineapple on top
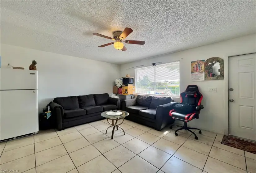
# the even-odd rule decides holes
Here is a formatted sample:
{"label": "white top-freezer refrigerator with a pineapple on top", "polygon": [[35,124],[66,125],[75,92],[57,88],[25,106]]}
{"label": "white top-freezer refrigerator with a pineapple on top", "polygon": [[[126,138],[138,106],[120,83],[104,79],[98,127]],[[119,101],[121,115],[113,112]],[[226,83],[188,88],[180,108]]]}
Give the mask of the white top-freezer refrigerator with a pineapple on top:
{"label": "white top-freezer refrigerator with a pineapple on top", "polygon": [[38,132],[38,71],[1,68],[1,140]]}

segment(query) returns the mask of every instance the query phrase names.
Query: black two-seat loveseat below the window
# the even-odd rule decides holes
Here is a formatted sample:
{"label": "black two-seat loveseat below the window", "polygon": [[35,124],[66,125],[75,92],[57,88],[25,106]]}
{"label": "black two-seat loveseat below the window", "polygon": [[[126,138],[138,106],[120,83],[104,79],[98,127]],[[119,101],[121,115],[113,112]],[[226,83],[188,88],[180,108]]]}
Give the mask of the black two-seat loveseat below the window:
{"label": "black two-seat loveseat below the window", "polygon": [[144,124],[160,131],[175,120],[169,116],[171,97],[154,97],[138,95],[136,99],[122,100],[121,109],[129,112],[125,117],[140,124]]}

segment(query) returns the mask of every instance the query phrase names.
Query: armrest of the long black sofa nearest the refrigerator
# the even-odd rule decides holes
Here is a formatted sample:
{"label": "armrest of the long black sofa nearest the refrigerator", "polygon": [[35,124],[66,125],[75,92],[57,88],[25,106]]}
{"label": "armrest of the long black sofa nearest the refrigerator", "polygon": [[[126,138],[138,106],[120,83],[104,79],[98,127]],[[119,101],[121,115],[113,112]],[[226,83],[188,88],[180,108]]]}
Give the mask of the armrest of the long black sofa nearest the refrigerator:
{"label": "armrest of the long black sofa nearest the refrigerator", "polygon": [[50,109],[53,116],[55,116],[57,129],[62,129],[62,118],[64,116],[64,109],[61,105],[51,102]]}

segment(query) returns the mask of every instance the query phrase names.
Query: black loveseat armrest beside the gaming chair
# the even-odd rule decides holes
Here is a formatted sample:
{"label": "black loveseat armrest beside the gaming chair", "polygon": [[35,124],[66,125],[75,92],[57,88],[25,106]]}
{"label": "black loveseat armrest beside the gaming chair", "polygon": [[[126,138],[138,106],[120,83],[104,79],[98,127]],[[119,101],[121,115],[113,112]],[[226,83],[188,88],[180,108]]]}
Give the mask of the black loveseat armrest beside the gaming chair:
{"label": "black loveseat armrest beside the gaming chair", "polygon": [[172,110],[172,103],[159,105],[156,108],[156,130],[161,130],[166,125],[174,122],[172,117],[169,116],[169,112]]}

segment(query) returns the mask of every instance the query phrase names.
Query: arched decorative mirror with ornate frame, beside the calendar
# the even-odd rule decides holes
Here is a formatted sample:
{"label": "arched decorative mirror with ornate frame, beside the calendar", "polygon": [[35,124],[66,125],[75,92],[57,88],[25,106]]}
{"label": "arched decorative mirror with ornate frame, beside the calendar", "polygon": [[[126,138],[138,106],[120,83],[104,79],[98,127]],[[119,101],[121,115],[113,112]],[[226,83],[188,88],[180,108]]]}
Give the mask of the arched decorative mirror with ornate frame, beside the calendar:
{"label": "arched decorative mirror with ornate frame, beside the calendar", "polygon": [[224,60],[219,57],[207,59],[204,62],[204,79],[224,79]]}

